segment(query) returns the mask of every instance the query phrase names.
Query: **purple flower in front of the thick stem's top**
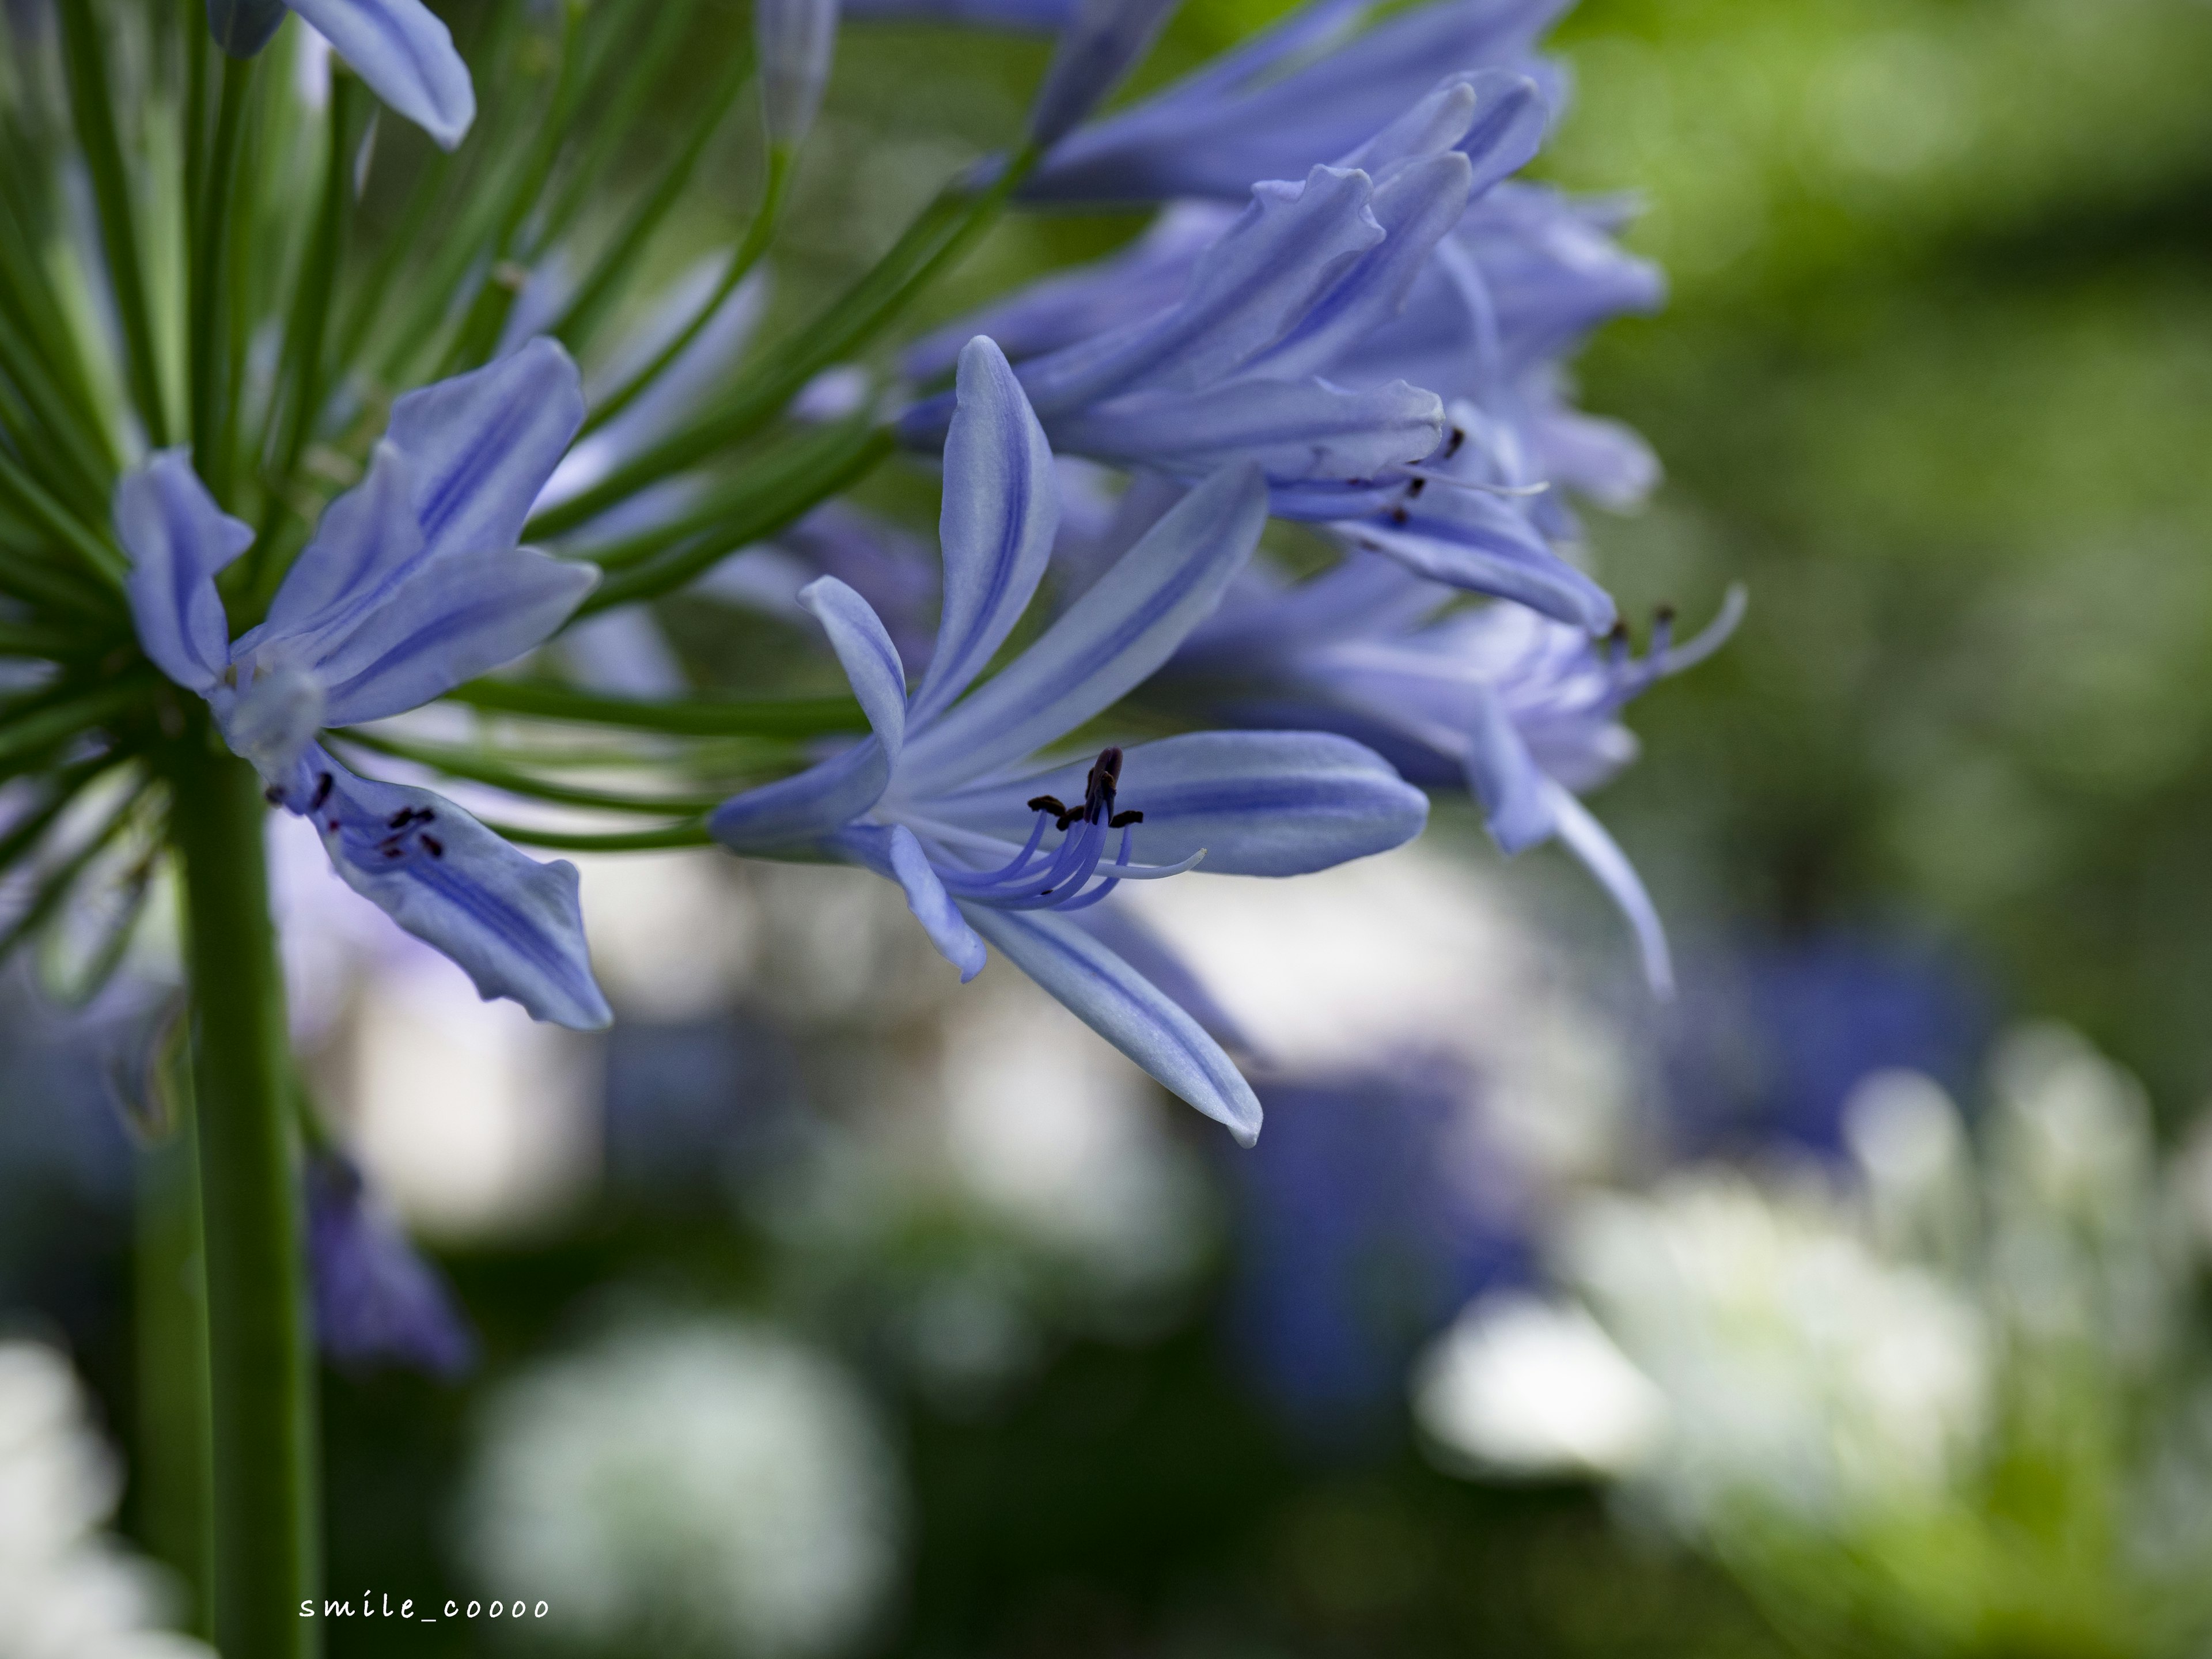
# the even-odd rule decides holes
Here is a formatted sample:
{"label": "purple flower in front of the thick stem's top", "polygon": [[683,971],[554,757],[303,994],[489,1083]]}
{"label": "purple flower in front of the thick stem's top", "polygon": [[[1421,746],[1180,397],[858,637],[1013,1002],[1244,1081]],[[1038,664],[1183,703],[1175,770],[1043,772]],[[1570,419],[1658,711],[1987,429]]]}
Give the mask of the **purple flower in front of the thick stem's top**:
{"label": "purple flower in front of the thick stem's top", "polygon": [[274,805],[314,821],[347,887],[487,1000],[591,1029],[611,1013],[575,865],[540,865],[427,790],[354,776],[316,741],[418,708],[568,619],[597,571],[515,542],[582,418],[575,365],[551,341],[407,394],[369,476],[330,504],[268,619],[234,641],[215,577],[254,533],[184,451],[117,484],[115,531],[146,655],[208,701]]}

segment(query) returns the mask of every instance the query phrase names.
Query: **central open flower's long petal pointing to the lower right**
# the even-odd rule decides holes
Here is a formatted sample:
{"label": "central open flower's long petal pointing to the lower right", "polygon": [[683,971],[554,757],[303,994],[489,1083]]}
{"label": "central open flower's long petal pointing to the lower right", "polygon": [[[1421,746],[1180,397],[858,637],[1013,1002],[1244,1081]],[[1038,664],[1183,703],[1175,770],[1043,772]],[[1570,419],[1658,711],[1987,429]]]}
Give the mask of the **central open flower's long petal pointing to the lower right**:
{"label": "central open flower's long petal pointing to the lower right", "polygon": [[1221,1044],[1157,984],[1051,911],[962,905],[969,922],[1086,1026],[1126,1053],[1164,1088],[1228,1126],[1239,1146],[1259,1139],[1259,1097]]}

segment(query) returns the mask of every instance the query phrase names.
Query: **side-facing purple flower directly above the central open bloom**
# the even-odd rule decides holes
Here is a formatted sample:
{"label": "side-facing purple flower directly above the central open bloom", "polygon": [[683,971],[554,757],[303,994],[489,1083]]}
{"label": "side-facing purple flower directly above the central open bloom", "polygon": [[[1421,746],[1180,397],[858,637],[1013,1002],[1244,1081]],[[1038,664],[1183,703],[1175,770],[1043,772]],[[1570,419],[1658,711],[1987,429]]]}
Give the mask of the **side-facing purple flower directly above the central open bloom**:
{"label": "side-facing purple flower directly above the central open bloom", "polygon": [[[1252,186],[1250,206],[1203,248],[1183,226],[1139,250],[1139,288],[1166,296],[1150,268],[1188,252],[1172,303],[1137,312],[1117,270],[1088,294],[1066,283],[1022,319],[1062,338],[1026,356],[1022,389],[1051,440],[1071,453],[1197,482],[1259,462],[1276,513],[1352,518],[1396,498],[1402,469],[1444,440],[1444,405],[1407,380],[1347,385],[1338,367],[1398,314],[1469,195],[1535,150],[1542,100],[1515,75],[1455,75],[1340,166]],[[1082,303],[1097,296],[1099,303]],[[1053,303],[1060,305],[1057,316]],[[980,323],[991,327],[991,319]],[[911,367],[942,363],[945,336]],[[1042,338],[1040,338],[1042,345]],[[947,398],[907,411],[909,442],[942,440]]]}

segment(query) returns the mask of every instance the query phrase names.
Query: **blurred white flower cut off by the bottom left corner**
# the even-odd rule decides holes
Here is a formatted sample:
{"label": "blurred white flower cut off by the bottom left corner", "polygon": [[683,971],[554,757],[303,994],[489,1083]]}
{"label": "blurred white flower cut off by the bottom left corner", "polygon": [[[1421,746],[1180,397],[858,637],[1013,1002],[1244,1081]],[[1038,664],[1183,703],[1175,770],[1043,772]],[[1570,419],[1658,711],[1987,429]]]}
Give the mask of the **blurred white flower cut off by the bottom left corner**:
{"label": "blurred white flower cut off by the bottom left corner", "polygon": [[0,1659],[212,1659],[159,1628],[159,1575],[100,1531],[119,1491],[69,1360],[0,1343]]}

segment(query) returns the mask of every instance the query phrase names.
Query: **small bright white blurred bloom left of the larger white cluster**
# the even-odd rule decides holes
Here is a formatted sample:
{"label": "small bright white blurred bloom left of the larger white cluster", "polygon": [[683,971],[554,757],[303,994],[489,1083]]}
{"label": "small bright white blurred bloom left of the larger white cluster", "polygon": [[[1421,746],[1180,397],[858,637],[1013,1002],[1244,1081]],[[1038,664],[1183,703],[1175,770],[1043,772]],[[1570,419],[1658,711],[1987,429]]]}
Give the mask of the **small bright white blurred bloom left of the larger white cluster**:
{"label": "small bright white blurred bloom left of the larger white cluster", "polygon": [[1500,1292],[1431,1343],[1413,1416],[1478,1473],[1624,1475],[1659,1444],[1666,1396],[1582,1307]]}

